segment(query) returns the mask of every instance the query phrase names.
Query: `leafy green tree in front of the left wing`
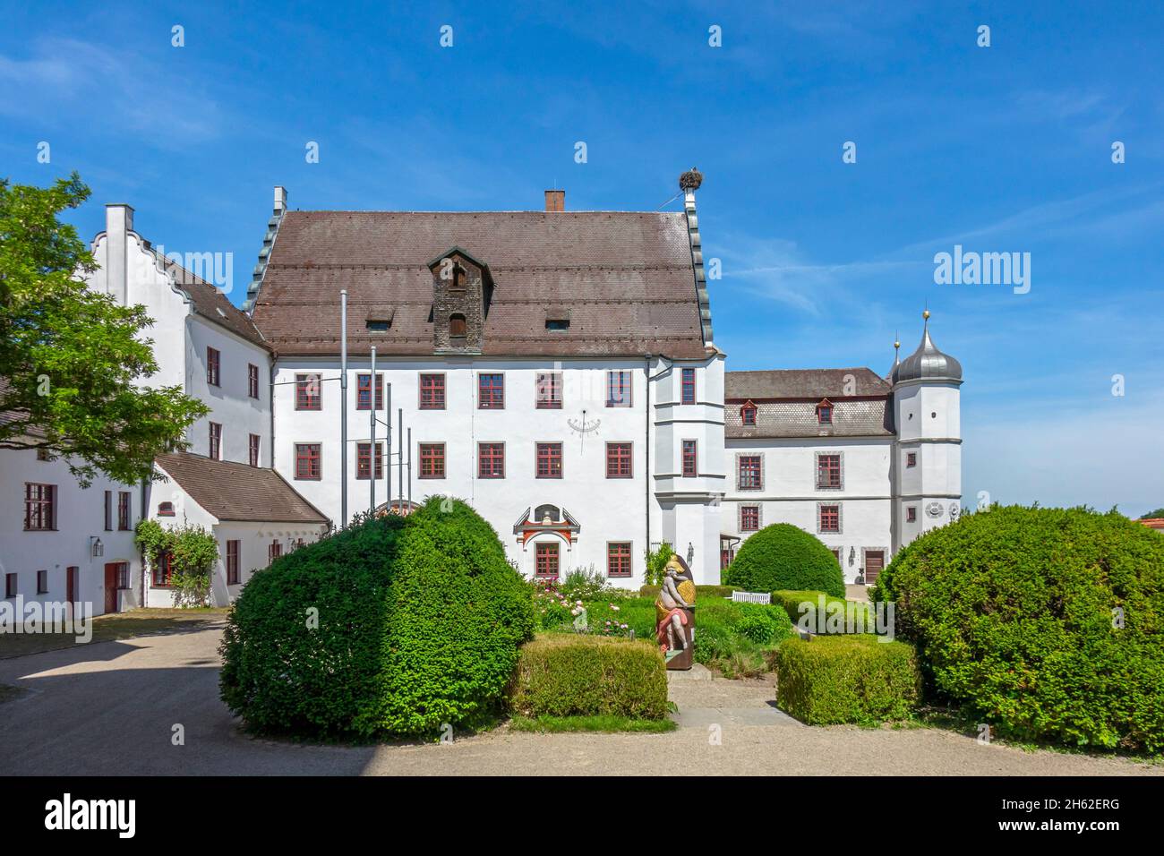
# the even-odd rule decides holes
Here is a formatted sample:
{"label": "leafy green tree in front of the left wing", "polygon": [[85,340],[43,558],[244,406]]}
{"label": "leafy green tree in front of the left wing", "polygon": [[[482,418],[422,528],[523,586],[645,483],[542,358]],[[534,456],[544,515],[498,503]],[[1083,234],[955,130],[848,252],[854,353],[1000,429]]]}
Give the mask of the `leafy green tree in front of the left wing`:
{"label": "leafy green tree in front of the left wing", "polygon": [[51,188],[0,181],[0,448],[64,458],[83,486],[98,473],[132,483],[208,409],[137,384],[157,370],[142,335],[154,321],[85,286],[93,256],[58,219],[88,194],[76,172]]}

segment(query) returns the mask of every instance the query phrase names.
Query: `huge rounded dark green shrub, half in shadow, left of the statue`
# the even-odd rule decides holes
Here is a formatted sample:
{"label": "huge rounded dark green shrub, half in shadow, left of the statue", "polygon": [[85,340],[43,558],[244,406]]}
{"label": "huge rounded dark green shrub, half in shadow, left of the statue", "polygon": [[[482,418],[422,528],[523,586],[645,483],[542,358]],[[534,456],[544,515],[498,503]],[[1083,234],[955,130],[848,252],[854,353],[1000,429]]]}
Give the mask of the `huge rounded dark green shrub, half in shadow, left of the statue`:
{"label": "huge rounded dark green shrub, half in shadow, left of the statue", "polygon": [[256,573],[223,637],[227,706],[255,729],[312,737],[431,735],[498,708],[532,635],[530,588],[488,523],[442,502]]}

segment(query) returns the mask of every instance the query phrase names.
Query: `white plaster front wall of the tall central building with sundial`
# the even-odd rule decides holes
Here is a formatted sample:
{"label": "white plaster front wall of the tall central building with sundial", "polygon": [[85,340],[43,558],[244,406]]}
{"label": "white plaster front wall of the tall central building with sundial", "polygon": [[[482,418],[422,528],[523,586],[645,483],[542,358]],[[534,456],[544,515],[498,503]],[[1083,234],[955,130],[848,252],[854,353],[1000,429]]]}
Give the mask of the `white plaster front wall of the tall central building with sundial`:
{"label": "white plaster front wall of the tall central building with sundial", "polygon": [[[718,370],[718,387],[711,395],[722,397],[722,362]],[[658,362],[651,367],[654,374]],[[633,392],[631,408],[608,408],[606,372],[626,369],[631,372]],[[310,502],[336,522],[340,510],[340,384],[339,361],[281,359],[276,365],[275,387],[275,467]],[[348,374],[348,516],[364,511],[370,503],[368,480],[357,480],[356,443],[368,441],[370,434],[369,411],[356,410],[356,376],[369,370],[368,360],[353,360]],[[538,410],[534,406],[537,374],[561,372],[563,405],[561,410]],[[701,372],[703,368],[701,367]],[[322,409],[320,411],[294,410],[294,380],[297,374],[319,372]],[[446,375],[446,410],[419,409],[419,375],[440,372]],[[501,372],[505,375],[505,409],[480,410],[477,408],[477,374]],[[598,573],[606,572],[608,542],[631,542],[632,572],[630,579],[615,580],[617,585],[639,586],[645,570],[647,550],[647,508],[659,512],[658,502],[648,498],[650,481],[646,473],[647,445],[647,398],[648,369],[644,360],[378,360],[377,373],[385,383],[391,383],[392,454],[390,467],[391,496],[399,495],[399,448],[397,409],[403,408],[405,431],[412,429],[412,500],[421,502],[430,495],[453,495],[468,501],[497,530],[511,560],[523,573],[532,575],[534,563],[533,542],[523,547],[513,535],[513,524],[526,509],[551,503],[567,509],[582,526],[576,543],[561,553],[562,572],[574,567],[594,566]],[[701,382],[703,383],[703,382]],[[718,391],[717,391],[718,390]],[[386,395],[386,394],[385,394]],[[669,401],[669,395],[660,398],[652,391],[652,402]],[[701,410],[695,408],[693,410]],[[722,438],[722,406],[719,437]],[[378,411],[384,418],[383,411]],[[585,422],[589,430],[581,432],[577,426]],[[573,423],[573,426],[572,426]],[[384,425],[377,425],[377,441],[384,440]],[[652,433],[655,431],[651,426]],[[708,454],[715,460],[715,451],[722,454],[722,439],[715,443],[714,429],[708,433]],[[405,437],[406,440],[406,437]],[[497,441],[505,444],[505,477],[477,477],[477,443]],[[534,450],[538,441],[562,443],[562,479],[537,479],[534,476]],[[631,443],[633,451],[633,477],[606,479],[608,441]],[[294,445],[319,443],[322,448],[322,479],[305,481],[294,477]],[[445,479],[420,479],[418,447],[421,443],[443,443],[446,454]],[[652,448],[652,457],[655,450]],[[666,467],[677,460],[667,455]],[[405,464],[407,454],[405,455]],[[652,460],[652,471],[656,462]],[[721,479],[722,481],[722,479]],[[404,495],[409,495],[409,476],[405,471]],[[376,502],[388,498],[385,482],[376,483]],[[703,505],[705,508],[705,504]],[[658,523],[658,518],[653,518]],[[718,538],[718,536],[717,536]],[[658,543],[659,529],[651,540]],[[686,543],[686,542],[684,542]]]}

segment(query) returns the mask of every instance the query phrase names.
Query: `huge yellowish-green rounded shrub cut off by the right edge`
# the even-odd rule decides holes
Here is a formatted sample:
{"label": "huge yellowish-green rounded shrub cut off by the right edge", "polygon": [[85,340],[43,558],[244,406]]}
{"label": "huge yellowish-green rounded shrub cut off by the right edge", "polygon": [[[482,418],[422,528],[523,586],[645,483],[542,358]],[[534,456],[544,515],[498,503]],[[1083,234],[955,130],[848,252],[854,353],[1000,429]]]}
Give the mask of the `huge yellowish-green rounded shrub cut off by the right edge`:
{"label": "huge yellowish-green rounded shrub cut off by the right edge", "polygon": [[[881,574],[932,688],[1002,736],[1164,750],[1164,539],[1122,515],[995,507]],[[1122,627],[1121,627],[1122,624]]]}

